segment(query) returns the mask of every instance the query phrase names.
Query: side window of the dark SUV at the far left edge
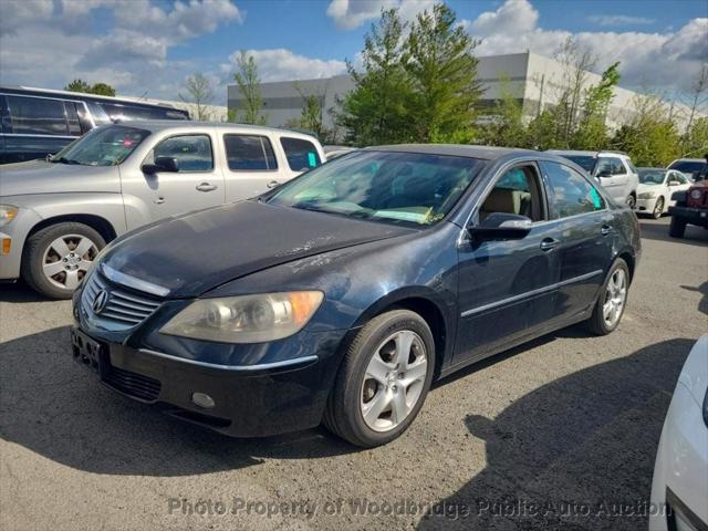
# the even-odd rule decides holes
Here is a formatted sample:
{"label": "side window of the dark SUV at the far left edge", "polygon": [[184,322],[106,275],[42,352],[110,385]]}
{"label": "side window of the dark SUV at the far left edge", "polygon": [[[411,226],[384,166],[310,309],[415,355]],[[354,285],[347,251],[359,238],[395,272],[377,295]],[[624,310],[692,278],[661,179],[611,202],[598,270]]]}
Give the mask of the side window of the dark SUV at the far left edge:
{"label": "side window of the dark SUV at the far left edge", "polygon": [[60,100],[8,95],[12,132],[23,135],[69,135]]}

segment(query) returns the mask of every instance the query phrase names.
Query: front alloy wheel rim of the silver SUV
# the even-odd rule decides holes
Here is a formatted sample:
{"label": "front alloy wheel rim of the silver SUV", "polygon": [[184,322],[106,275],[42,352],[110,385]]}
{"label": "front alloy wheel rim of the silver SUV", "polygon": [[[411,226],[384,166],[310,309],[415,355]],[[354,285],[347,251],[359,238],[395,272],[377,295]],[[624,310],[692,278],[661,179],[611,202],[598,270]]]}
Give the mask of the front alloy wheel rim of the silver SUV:
{"label": "front alloy wheel rim of the silver SUV", "polygon": [[96,243],[82,235],[60,236],[44,250],[42,273],[53,285],[75,290],[98,254]]}

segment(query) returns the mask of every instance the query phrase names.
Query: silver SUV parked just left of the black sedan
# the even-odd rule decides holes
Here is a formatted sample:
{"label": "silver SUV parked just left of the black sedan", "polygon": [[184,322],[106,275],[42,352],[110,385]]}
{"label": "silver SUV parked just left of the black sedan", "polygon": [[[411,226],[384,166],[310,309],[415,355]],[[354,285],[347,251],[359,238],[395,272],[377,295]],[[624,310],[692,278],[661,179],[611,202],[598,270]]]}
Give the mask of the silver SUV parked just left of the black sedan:
{"label": "silver SUV parked just left of the black sedan", "polygon": [[315,138],[284,129],[174,121],[97,127],[49,160],[0,167],[0,281],[21,277],[67,299],[115,237],[257,196],[322,160]]}

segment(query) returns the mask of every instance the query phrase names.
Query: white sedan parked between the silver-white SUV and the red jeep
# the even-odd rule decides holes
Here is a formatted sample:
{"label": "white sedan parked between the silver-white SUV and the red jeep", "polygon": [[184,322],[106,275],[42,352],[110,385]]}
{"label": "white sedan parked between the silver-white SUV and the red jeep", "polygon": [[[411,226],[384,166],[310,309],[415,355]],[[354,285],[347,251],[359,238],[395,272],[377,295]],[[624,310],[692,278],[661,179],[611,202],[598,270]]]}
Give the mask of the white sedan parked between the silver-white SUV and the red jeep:
{"label": "white sedan parked between the silver-white SUV and the red jeep", "polygon": [[637,214],[648,214],[659,219],[668,211],[675,191],[690,188],[690,180],[683,173],[665,168],[638,168],[639,186],[637,187]]}

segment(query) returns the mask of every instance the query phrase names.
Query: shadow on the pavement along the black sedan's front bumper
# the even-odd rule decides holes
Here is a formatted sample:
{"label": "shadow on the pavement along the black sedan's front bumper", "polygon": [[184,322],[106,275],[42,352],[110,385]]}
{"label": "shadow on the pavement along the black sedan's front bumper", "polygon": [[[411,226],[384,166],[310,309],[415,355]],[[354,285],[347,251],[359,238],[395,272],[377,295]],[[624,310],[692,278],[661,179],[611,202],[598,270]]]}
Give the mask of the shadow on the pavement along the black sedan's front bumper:
{"label": "shadow on the pavement along the black sedan's front bumper", "polygon": [[186,476],[268,458],[356,451],[321,428],[233,439],[170,418],[105,388],[74,363],[66,327],[0,344],[0,438],[76,469],[136,476]]}

